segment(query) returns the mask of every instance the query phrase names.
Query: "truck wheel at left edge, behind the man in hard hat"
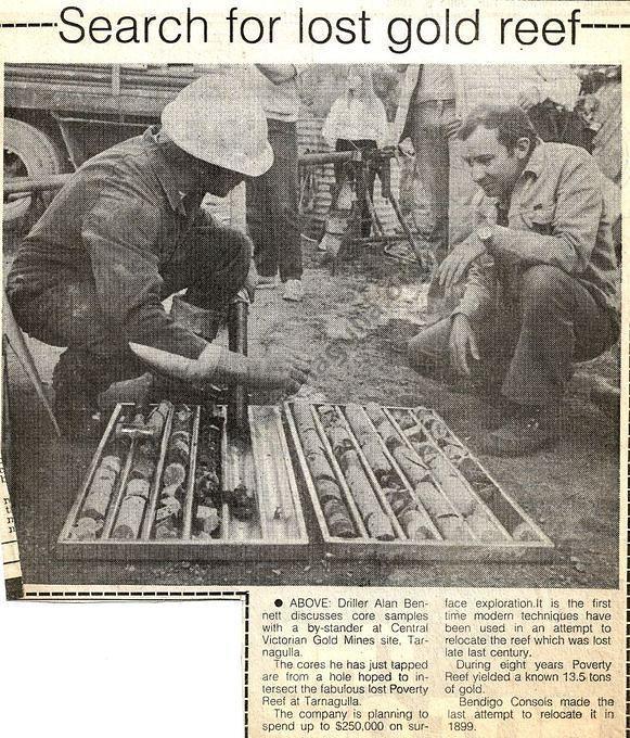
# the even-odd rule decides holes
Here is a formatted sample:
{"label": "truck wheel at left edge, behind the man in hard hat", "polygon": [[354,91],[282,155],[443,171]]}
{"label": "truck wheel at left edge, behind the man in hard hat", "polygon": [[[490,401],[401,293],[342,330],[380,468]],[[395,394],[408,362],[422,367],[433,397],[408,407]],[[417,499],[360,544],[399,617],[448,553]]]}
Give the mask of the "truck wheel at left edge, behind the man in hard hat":
{"label": "truck wheel at left edge, behind the man in hard hat", "polygon": [[[63,170],[64,153],[61,147],[44,131],[35,126],[4,118],[4,181],[11,177],[37,177],[55,175]],[[47,200],[48,198],[48,200]],[[46,194],[48,204],[52,195]],[[13,196],[3,199],[2,219],[8,230],[20,230],[27,221],[34,198]]]}

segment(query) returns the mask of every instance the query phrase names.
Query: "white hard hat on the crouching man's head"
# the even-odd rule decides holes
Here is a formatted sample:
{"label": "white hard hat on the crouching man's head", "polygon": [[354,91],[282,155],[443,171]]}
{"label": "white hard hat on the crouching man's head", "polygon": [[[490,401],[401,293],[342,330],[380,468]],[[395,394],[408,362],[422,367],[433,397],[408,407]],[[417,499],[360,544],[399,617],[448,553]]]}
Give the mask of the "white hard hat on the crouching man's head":
{"label": "white hard hat on the crouching man's head", "polygon": [[180,149],[224,169],[259,177],[273,164],[265,112],[246,87],[200,77],[164,109],[162,126]]}

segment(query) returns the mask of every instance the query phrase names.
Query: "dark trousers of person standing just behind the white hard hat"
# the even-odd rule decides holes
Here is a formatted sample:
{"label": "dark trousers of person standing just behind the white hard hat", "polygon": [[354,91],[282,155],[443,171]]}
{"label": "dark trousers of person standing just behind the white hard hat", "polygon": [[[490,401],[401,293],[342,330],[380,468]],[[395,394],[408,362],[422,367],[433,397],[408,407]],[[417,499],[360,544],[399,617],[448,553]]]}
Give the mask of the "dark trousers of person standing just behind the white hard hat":
{"label": "dark trousers of person standing just behind the white hard hat", "polygon": [[267,118],[273,164],[247,180],[247,229],[254,241],[258,273],[301,279],[297,125]]}

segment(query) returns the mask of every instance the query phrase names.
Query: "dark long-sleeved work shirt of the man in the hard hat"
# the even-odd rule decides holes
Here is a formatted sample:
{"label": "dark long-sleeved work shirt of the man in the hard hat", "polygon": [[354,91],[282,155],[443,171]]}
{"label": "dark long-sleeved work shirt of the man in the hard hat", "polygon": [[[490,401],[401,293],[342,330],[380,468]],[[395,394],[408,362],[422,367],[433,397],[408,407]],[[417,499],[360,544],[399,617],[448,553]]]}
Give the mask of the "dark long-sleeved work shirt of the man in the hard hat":
{"label": "dark long-sleeved work shirt of the man in the hard hat", "polygon": [[207,344],[162,306],[159,270],[201,199],[178,190],[150,129],[77,170],[20,246],[12,272],[31,291],[93,279],[104,322],[127,341],[197,358]]}

